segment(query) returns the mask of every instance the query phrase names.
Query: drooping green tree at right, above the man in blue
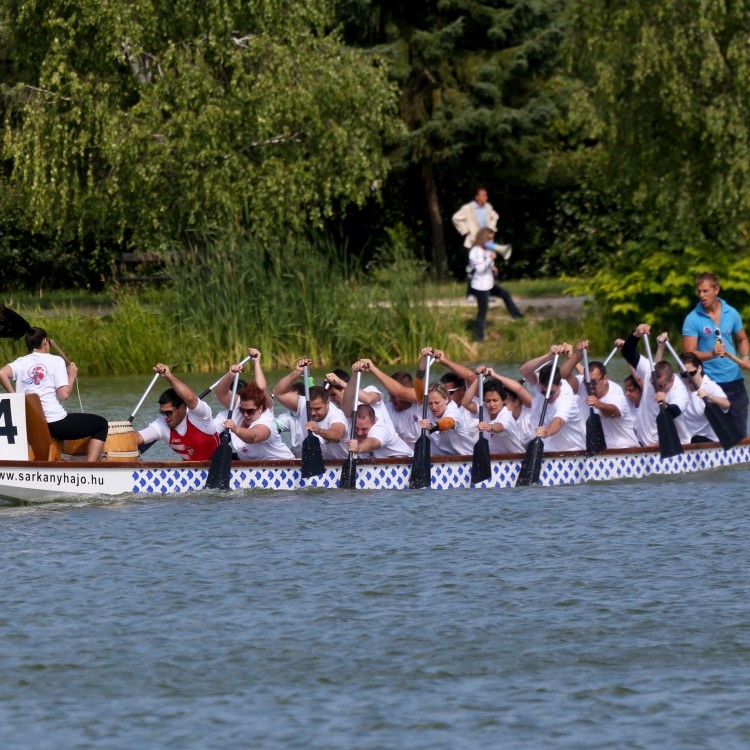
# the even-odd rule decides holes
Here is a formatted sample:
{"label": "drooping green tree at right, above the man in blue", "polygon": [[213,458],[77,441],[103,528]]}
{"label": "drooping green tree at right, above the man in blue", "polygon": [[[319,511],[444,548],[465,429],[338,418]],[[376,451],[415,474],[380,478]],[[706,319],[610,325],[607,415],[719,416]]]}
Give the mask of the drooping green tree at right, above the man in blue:
{"label": "drooping green tree at right, above the man in blue", "polygon": [[[572,0],[571,112],[602,186],[687,242],[746,241],[750,15],[744,2]],[[604,189],[604,188],[603,188]]]}

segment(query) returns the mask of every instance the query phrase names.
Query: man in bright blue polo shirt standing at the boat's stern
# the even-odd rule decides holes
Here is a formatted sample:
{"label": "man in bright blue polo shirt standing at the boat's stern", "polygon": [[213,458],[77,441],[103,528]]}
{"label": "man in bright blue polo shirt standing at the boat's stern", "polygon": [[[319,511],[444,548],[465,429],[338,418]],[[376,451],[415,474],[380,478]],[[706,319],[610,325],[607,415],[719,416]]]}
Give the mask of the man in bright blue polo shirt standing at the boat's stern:
{"label": "man in bright blue polo shirt standing at the boat's stern", "polygon": [[722,387],[730,402],[729,415],[744,437],[748,411],[745,378],[734,362],[721,356],[721,351],[723,346],[726,351],[739,352],[742,359],[750,360],[750,341],[740,314],[719,297],[721,286],[716,274],[702,273],[695,283],[698,304],[682,324],[682,348],[693,352],[703,363],[704,372]]}

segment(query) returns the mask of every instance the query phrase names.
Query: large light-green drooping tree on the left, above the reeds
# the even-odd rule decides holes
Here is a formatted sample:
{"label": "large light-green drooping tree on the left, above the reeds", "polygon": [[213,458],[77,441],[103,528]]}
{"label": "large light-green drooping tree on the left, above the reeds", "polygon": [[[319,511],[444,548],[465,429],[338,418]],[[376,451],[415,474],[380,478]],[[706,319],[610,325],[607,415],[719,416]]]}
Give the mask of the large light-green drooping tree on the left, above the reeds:
{"label": "large light-green drooping tree on the left, above the reeds", "polygon": [[2,153],[36,231],[149,250],[212,226],[270,237],[388,171],[392,84],[328,0],[0,0],[0,20]]}

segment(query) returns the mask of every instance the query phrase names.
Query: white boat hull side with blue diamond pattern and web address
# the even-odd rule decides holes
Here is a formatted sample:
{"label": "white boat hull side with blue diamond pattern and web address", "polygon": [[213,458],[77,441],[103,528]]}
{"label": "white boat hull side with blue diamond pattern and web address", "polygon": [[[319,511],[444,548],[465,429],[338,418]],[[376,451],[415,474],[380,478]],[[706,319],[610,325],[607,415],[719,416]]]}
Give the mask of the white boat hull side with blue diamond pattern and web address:
{"label": "white boat hull side with blue diamond pattern and web address", "polygon": [[[479,485],[515,487],[522,456],[493,456],[492,474]],[[750,440],[724,450],[718,443],[685,446],[679,456],[662,459],[657,448],[544,457],[539,484],[545,487],[592,481],[640,479],[684,474],[750,463]],[[303,479],[299,461],[234,462],[230,492],[252,490],[331,489],[338,487],[342,462],[331,462],[318,477]],[[0,497],[21,503],[86,497],[190,494],[205,490],[208,462],[98,463],[0,461]],[[357,468],[359,490],[403,490],[409,487],[411,462],[398,459],[363,461]],[[430,488],[468,489],[471,456],[435,459]]]}

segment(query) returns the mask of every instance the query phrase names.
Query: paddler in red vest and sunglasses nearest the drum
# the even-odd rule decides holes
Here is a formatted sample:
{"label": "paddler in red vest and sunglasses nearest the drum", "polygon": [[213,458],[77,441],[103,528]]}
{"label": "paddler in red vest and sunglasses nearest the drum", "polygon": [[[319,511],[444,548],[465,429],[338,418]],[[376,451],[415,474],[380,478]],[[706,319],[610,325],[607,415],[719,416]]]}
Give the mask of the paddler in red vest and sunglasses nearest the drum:
{"label": "paddler in red vest and sunglasses nearest the drum", "polygon": [[136,443],[161,440],[184,461],[208,461],[219,446],[211,407],[175,377],[168,365],[159,362],[154,372],[170,387],[159,396],[159,417],[135,433]]}

